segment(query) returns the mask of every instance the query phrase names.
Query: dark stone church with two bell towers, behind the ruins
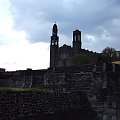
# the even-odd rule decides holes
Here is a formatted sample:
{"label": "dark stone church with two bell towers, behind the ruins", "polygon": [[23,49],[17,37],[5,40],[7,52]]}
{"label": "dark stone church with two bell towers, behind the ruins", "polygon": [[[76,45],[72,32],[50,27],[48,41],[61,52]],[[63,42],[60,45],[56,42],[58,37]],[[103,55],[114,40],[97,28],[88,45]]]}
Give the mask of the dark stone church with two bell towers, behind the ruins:
{"label": "dark stone church with two bell towers, behind the ruins", "polygon": [[50,43],[50,68],[56,67],[70,67],[74,66],[73,58],[79,54],[93,54],[88,50],[81,48],[81,31],[73,31],[72,47],[64,44],[59,47],[58,28],[56,23],[52,28],[52,36]]}

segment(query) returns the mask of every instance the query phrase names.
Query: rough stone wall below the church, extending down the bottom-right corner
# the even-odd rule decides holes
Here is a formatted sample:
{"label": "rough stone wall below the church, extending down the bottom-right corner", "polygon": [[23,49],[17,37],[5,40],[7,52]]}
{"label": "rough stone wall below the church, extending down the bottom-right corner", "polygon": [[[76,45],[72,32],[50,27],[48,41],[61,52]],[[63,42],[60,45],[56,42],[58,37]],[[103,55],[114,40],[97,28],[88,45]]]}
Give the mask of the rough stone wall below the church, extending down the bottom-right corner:
{"label": "rough stone wall below the church, extending down the bottom-right corner", "polygon": [[120,72],[50,72],[44,80],[48,89],[84,92],[100,120],[118,120]]}

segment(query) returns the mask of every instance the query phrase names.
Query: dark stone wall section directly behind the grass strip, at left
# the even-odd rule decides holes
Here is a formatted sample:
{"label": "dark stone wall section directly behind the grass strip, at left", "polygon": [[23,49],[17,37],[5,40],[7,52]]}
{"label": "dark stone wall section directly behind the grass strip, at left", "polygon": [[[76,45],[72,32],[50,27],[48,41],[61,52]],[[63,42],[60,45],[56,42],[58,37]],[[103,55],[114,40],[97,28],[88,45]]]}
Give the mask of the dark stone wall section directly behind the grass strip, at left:
{"label": "dark stone wall section directly behind the grass strip, at left", "polygon": [[19,70],[0,72],[0,87],[31,88],[44,84],[44,74],[47,70]]}

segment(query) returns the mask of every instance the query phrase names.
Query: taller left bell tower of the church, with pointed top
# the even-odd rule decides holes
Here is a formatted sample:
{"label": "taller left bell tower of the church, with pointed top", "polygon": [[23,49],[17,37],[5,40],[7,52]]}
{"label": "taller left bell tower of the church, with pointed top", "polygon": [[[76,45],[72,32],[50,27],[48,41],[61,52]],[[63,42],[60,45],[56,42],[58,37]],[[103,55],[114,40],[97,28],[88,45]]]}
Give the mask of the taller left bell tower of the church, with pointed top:
{"label": "taller left bell tower of the church, with pointed top", "polygon": [[56,67],[57,53],[59,48],[59,37],[56,23],[53,25],[51,43],[50,43],[50,68]]}

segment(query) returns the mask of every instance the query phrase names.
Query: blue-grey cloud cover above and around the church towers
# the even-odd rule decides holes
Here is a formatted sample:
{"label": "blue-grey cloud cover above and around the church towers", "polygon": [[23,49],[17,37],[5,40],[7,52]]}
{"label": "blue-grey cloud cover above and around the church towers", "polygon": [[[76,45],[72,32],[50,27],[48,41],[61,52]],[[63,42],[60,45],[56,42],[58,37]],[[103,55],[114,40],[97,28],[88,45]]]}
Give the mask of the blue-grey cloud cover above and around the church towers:
{"label": "blue-grey cloud cover above and around the church towers", "polygon": [[[71,43],[74,29],[83,33],[84,47],[100,51],[110,46],[119,49],[119,0],[11,0],[14,28],[25,30],[31,42],[49,42],[56,21],[59,32]],[[88,40],[94,36],[94,41]],[[88,42],[89,41],[89,42]]]}

